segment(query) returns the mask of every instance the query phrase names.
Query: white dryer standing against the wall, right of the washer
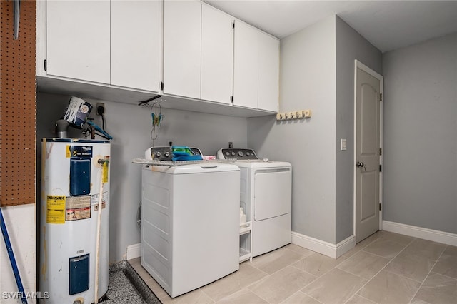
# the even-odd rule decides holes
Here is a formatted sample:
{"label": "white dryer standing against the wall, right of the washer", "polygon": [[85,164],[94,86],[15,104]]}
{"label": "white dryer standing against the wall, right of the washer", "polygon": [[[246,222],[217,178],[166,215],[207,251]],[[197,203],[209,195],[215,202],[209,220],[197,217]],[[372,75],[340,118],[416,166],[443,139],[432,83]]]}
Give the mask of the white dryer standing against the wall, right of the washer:
{"label": "white dryer standing against the wall, right of the washer", "polygon": [[222,148],[217,157],[236,158],[240,168],[240,206],[251,221],[252,257],[291,243],[291,163],[259,159],[247,148]]}

